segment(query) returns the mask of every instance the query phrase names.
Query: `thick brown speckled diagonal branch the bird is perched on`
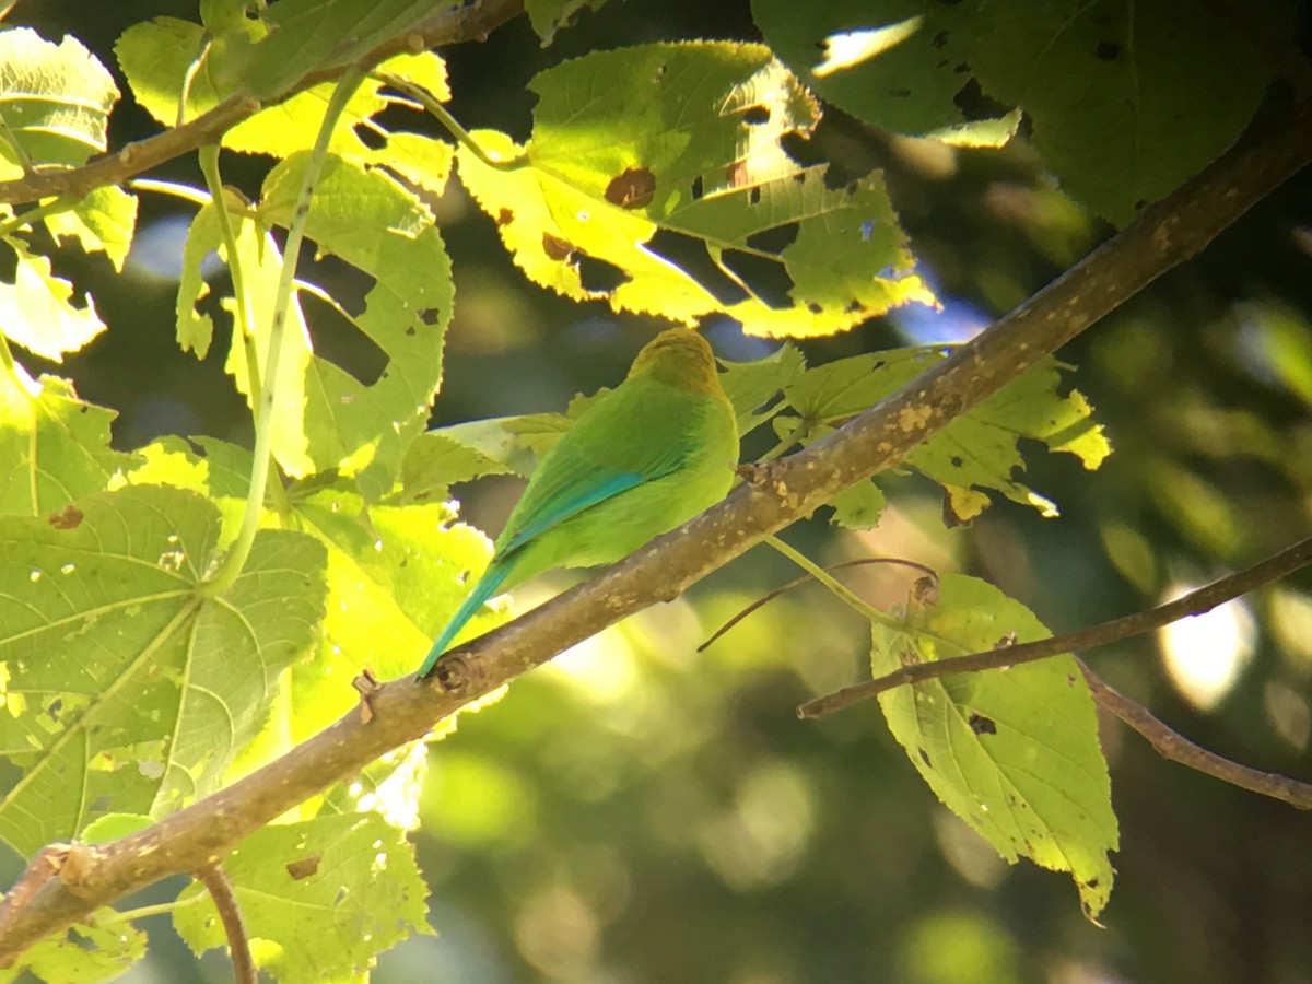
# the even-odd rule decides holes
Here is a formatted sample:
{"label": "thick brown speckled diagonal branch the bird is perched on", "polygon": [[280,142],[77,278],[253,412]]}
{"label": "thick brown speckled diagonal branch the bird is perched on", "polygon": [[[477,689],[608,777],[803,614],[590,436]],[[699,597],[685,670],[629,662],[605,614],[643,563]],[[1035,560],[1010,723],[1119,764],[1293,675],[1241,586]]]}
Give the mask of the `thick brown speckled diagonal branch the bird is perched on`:
{"label": "thick brown speckled diagonal branch the bird is perched on", "polygon": [[394,681],[352,712],[240,782],[108,844],[88,845],[76,883],[46,883],[0,959],[97,905],[177,871],[223,859],[243,837],[440,718],[656,601],[677,596],[854,482],[888,468],[958,415],[1056,350],[1221,230],[1312,160],[1312,106],[1261,143],[1231,151],[1060,279],[871,411],[806,450],[762,467],[762,482],[643,547],[586,584],[454,649],[426,682]]}

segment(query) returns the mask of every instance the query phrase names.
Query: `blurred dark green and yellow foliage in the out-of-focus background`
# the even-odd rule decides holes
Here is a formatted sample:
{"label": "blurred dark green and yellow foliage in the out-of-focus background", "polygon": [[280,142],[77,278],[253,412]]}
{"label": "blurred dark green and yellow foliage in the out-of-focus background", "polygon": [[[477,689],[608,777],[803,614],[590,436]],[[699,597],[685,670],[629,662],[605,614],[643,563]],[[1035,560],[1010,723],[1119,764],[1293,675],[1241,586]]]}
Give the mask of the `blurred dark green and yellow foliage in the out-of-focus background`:
{"label": "blurred dark green and yellow foliage in the out-of-focus background", "polygon": [[[194,3],[25,0],[10,21],[77,35],[112,64],[131,21]],[[443,52],[466,126],[526,135],[533,72],[594,47],[663,38],[750,38],[745,0],[628,0],[585,14],[543,51],[523,18]],[[1305,39],[1305,38],[1304,38]],[[126,105],[112,143],[152,130]],[[802,345],[812,362],[907,338],[963,337],[1022,300],[1110,227],[1085,216],[1023,142],[951,150],[872,131],[830,110],[811,146],[861,174],[886,169],[893,202],[945,311],[896,312]],[[257,173],[252,161],[249,176]],[[192,159],[163,177],[199,184]],[[243,181],[230,157],[226,177]],[[220,356],[173,341],[173,273],[185,230],[144,198],[129,273],[66,253],[94,281],[110,331],[51,367],[119,412],[115,442],[160,433],[248,442]],[[613,383],[660,325],[576,306],[527,283],[457,182],[434,203],[458,304],[434,422],[560,409]],[[867,534],[824,517],[786,538],[824,562],[905,556],[979,573],[1054,631],[1136,610],[1305,535],[1312,518],[1312,180],[1291,181],[1195,261],[1067,346],[1076,384],[1117,453],[1086,474],[1039,457],[1035,487],[1061,517],[997,502],[945,529],[926,483],[891,478]],[[311,311],[320,352],[367,375],[367,350]],[[712,324],[720,354],[770,350]],[[222,353],[224,344],[211,352]],[[25,359],[30,370],[45,369]],[[143,371],[143,367],[148,367]],[[517,484],[458,488],[467,521],[495,533]],[[1008,867],[949,816],[908,768],[874,705],[802,723],[794,707],[866,670],[861,623],[819,588],[777,600],[705,653],[720,622],[794,576],[760,547],[520,681],[434,745],[416,836],[440,937],[386,954],[375,980],[501,981],[1271,981],[1312,980],[1308,817],[1165,764],[1107,723],[1120,817],[1118,883],[1085,922],[1067,878]],[[848,580],[896,604],[909,575]],[[523,609],[567,581],[539,581]],[[1312,777],[1312,575],[1194,619],[1177,632],[1089,653],[1093,666],[1202,744]],[[18,861],[7,867],[17,870]],[[148,900],[133,900],[143,904]],[[163,897],[163,896],[161,896]],[[167,920],[152,939],[172,933]],[[181,943],[156,946],[130,980],[228,979]]]}

